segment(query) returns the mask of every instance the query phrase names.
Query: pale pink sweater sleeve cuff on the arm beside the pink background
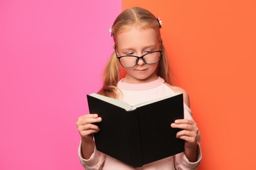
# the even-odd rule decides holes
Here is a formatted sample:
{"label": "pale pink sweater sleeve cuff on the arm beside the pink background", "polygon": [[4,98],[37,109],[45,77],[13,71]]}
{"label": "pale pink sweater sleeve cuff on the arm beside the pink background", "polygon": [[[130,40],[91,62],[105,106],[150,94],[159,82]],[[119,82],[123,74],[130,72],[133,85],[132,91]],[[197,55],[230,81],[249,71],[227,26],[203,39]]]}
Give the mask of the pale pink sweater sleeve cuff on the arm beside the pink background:
{"label": "pale pink sweater sleeve cuff on the arm beside the pink background", "polygon": [[83,167],[86,170],[102,169],[102,166],[105,161],[105,154],[96,150],[96,147],[95,147],[93,154],[89,158],[89,160],[83,159],[83,156],[81,154],[81,141],[80,141],[79,148],[78,148],[78,156],[79,156],[81,165],[83,165]]}

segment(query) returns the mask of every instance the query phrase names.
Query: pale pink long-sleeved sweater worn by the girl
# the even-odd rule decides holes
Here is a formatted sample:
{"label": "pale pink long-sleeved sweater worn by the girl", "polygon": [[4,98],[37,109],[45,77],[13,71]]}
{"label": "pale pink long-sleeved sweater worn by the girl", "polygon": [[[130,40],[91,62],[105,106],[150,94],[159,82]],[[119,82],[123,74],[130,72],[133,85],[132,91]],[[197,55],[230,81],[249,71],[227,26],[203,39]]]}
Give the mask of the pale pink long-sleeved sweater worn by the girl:
{"label": "pale pink long-sleeved sweater worn by the girl", "polygon": [[[121,100],[129,103],[130,105],[136,105],[138,103],[142,103],[144,101],[150,101],[152,99],[157,99],[159,97],[163,97],[165,95],[170,95],[175,92],[169,88],[165,84],[163,78],[158,77],[157,80],[152,82],[144,83],[144,84],[129,84],[125,83],[122,80],[119,80],[117,83],[117,88],[121,90]],[[192,111],[190,108],[184,103],[184,118],[193,120]],[[171,127],[170,127],[171,128]],[[152,163],[148,163],[143,165],[142,167],[131,167],[115,158],[112,158],[98,150],[95,150],[91,155],[89,160],[85,160],[81,156],[81,144],[78,148],[79,160],[81,165],[87,170],[91,169],[118,169],[118,170],[155,170],[155,169],[196,169],[202,160],[202,151],[200,147],[200,133],[198,133],[198,160],[195,162],[190,162],[186,158],[184,152],[179,154],[175,154],[174,156],[169,156],[167,158],[163,158],[162,160],[154,161]]]}

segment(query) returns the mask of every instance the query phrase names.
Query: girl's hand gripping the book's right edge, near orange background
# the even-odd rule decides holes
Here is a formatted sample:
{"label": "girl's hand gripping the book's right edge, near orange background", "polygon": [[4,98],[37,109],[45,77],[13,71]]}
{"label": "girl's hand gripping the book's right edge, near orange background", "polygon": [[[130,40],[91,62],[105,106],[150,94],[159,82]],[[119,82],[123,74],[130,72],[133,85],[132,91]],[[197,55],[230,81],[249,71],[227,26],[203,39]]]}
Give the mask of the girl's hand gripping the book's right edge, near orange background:
{"label": "girl's hand gripping the book's right edge, near orange background", "polygon": [[197,144],[199,129],[196,122],[194,122],[193,120],[175,120],[175,122],[171,124],[171,127],[183,129],[177,133],[176,137],[179,139],[183,139],[185,141],[185,146],[190,147]]}

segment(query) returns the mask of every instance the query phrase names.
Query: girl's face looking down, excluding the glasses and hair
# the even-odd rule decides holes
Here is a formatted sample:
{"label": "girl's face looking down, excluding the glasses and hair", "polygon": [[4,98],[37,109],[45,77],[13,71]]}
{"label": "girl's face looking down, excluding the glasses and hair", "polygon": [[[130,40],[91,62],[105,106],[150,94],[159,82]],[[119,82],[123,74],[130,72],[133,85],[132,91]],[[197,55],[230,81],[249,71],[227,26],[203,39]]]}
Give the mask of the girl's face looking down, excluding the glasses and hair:
{"label": "girl's face looking down, excluding the glasses and hair", "polygon": [[[154,29],[141,29],[131,27],[129,31],[124,31],[116,35],[116,52],[118,56],[133,55],[142,56],[148,52],[160,50],[158,33]],[[145,83],[156,80],[156,68],[158,63],[146,64],[139,59],[135,67],[124,68],[126,76],[124,82]]]}

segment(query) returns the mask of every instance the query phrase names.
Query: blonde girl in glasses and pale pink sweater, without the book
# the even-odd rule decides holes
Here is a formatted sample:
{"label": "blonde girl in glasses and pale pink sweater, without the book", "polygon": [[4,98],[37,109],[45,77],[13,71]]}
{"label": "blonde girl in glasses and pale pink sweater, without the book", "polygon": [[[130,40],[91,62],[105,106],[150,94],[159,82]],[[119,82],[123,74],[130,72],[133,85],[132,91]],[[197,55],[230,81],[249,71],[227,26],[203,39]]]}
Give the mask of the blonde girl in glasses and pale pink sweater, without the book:
{"label": "blonde girl in glasses and pale pink sweater, without the book", "polygon": [[[199,129],[192,118],[188,93],[182,88],[171,86],[160,27],[161,20],[140,7],[124,10],[117,16],[110,29],[115,42],[115,52],[106,65],[104,85],[98,93],[121,99],[130,105],[171,93],[183,93],[184,119],[175,120],[175,123],[170,124],[170,128],[182,129],[177,133],[177,138],[185,141],[184,152],[136,169],[196,169],[202,158]],[[126,73],[121,80],[119,65]],[[79,159],[83,167],[135,169],[96,150],[93,133],[100,129],[94,123],[101,121],[102,118],[97,114],[85,114],[77,120],[81,135]]]}

